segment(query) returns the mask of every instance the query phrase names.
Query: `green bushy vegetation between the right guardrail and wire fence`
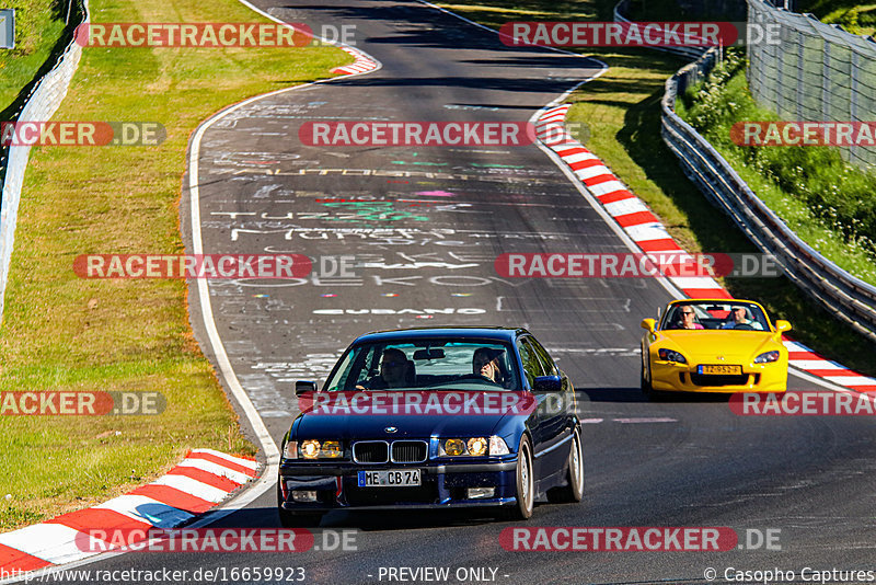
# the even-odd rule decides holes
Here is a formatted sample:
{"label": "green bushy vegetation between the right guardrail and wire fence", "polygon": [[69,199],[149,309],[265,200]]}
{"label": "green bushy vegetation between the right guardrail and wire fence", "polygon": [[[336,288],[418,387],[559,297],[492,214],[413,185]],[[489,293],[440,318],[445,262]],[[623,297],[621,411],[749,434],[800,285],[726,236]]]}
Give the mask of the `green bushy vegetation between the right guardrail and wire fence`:
{"label": "green bushy vegetation between the right guardrail and wire fence", "polygon": [[876,175],[845,163],[835,148],[735,145],[735,123],[780,119],[748,92],[741,54],[690,88],[678,111],[806,243],[876,285]]}

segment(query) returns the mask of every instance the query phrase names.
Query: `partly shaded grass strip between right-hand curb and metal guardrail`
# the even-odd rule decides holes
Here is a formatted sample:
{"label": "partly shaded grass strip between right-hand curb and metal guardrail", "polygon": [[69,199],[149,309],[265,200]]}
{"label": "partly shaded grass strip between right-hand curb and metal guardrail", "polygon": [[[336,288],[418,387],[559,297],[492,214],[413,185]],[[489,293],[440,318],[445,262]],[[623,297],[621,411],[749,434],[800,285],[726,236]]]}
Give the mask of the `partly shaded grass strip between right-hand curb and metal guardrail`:
{"label": "partly shaded grass strip between right-hand curb and metal guardrail", "polygon": [[[560,3],[489,0],[464,7],[441,5],[498,28],[514,20],[610,21],[614,3],[613,0]],[[538,14],[538,18],[529,14]],[[759,252],[731,220],[688,181],[676,156],[660,137],[664,85],[685,61],[645,49],[581,49],[581,53],[593,55],[611,68],[581,85],[568,99],[573,105],[567,119],[589,126],[587,147],[650,206],[685,250],[693,253]],[[873,359],[876,345],[833,319],[786,278],[724,278],[721,282],[735,297],[758,300],[770,314],[791,321],[792,334],[802,343],[858,371],[876,375]]]}

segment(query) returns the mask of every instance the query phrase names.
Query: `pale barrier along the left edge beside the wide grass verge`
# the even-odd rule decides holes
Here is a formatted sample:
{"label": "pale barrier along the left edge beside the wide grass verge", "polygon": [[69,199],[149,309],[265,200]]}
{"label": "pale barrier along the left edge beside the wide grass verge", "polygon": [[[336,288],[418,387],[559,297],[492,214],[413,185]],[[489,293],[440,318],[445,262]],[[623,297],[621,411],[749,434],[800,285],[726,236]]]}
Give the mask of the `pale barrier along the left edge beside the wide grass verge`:
{"label": "pale barrier along the left edge beside the wide grass verge", "polygon": [[[82,56],[82,47],[72,39],[72,30],[78,24],[89,22],[88,0],[82,0],[78,9],[79,18],[68,25],[70,43],[58,57],[55,67],[33,85],[33,91],[15,116],[15,122],[48,122],[58,110],[64,96],[67,95],[70,79],[72,79],[79,65],[79,58]],[[4,171],[2,198],[0,198],[0,320],[3,318],[3,298],[5,297],[12,244],[15,239],[21,187],[24,183],[24,172],[27,169],[30,156],[30,146],[10,146],[5,157],[0,160]]]}

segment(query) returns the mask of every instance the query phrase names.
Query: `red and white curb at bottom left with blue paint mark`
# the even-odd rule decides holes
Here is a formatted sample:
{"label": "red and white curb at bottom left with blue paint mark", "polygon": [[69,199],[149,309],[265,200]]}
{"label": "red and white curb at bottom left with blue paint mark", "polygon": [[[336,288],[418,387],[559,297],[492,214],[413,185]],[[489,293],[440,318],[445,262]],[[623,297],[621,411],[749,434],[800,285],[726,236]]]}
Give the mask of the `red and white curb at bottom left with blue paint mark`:
{"label": "red and white curb at bottom left with blue paint mark", "polygon": [[[207,512],[256,475],[258,463],[211,449],[195,449],[152,483],[97,506],[0,535],[0,572],[34,571],[71,563],[110,550],[95,539],[104,530],[170,529]],[[82,547],[85,540],[94,547]],[[91,548],[83,551],[82,548]]]}

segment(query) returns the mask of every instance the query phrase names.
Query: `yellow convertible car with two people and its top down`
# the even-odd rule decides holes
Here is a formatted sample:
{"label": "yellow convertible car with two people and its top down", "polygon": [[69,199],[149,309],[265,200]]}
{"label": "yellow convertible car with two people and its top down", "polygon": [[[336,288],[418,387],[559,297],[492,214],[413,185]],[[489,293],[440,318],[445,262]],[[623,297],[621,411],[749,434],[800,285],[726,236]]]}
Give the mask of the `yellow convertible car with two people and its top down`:
{"label": "yellow convertible car with two people and its top down", "polygon": [[670,302],[642,329],[642,392],[784,392],[787,349],[763,307],[738,299]]}

